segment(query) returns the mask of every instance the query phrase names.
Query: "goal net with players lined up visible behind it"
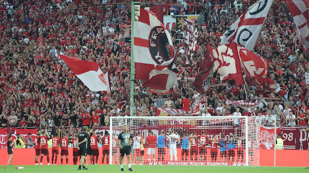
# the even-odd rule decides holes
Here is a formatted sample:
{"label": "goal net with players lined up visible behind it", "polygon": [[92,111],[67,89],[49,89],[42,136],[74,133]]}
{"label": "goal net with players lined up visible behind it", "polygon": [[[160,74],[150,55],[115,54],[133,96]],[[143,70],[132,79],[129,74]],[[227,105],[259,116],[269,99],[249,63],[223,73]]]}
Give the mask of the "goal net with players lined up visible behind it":
{"label": "goal net with players lined up visible behind it", "polygon": [[119,164],[117,138],[127,125],[132,164],[258,166],[260,124],[259,116],[110,117],[109,162]]}

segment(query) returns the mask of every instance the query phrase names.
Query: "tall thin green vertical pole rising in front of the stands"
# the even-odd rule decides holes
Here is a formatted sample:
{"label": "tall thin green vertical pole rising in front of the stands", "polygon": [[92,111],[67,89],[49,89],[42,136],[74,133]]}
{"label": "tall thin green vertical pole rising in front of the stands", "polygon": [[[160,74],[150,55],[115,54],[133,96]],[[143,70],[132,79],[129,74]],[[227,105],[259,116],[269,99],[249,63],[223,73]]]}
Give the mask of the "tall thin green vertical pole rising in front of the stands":
{"label": "tall thin green vertical pole rising in front of the stands", "polygon": [[134,20],[135,20],[135,7],[139,2],[132,1],[131,6],[131,72],[130,72],[130,116],[134,116]]}

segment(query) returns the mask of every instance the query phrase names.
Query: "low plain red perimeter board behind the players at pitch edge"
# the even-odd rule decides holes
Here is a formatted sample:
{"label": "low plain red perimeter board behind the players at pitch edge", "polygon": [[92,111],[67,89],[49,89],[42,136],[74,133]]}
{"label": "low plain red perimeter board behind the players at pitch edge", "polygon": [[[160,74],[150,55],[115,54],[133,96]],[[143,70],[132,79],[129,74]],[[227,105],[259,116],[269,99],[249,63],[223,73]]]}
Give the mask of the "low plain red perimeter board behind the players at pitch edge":
{"label": "low plain red perimeter board behind the players at pitch edge", "polygon": [[[51,154],[51,149],[49,149]],[[59,150],[60,153],[60,150]],[[69,164],[73,164],[72,149],[69,149]],[[148,160],[146,155],[147,149],[145,149],[144,160]],[[177,153],[181,153],[178,149]],[[9,155],[6,149],[0,149],[0,165],[6,165],[9,159]],[[34,165],[35,150],[34,149],[14,149],[13,151],[13,165]],[[58,155],[57,165],[60,164],[60,155]],[[180,159],[180,155],[178,155]],[[102,164],[102,149],[99,149],[98,164]],[[168,155],[166,156],[168,159]],[[308,151],[306,150],[277,150],[276,151],[276,166],[307,166]],[[51,155],[50,155],[51,159]],[[64,160],[65,162],[65,160]],[[47,165],[46,157],[43,159],[43,164]],[[88,164],[90,159],[88,157]],[[106,164],[106,163],[105,163]],[[262,150],[260,149],[260,165],[261,166],[274,166],[274,150]]]}

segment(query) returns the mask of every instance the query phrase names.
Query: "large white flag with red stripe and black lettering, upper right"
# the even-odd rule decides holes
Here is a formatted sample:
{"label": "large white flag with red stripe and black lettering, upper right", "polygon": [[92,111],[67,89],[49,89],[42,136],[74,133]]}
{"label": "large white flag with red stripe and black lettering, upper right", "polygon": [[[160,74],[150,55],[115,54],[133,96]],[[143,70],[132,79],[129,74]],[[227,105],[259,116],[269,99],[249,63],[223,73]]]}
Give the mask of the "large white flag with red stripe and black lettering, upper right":
{"label": "large white flag with red stripe and black lettering, upper right", "polygon": [[252,51],[274,0],[259,0],[249,7],[221,37],[220,44],[236,42]]}

